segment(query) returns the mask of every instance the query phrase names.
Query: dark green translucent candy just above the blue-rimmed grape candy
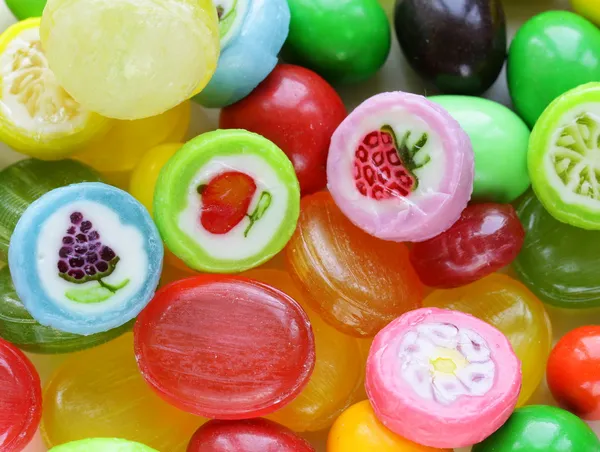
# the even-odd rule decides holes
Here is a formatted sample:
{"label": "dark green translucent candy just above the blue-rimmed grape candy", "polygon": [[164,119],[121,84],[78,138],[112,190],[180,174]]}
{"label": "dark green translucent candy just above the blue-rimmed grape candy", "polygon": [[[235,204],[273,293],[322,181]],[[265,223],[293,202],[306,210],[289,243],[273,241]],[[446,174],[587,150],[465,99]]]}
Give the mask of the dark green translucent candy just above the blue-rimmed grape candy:
{"label": "dark green translucent candy just above the blue-rimmed grape candy", "polygon": [[21,160],[0,171],[0,261],[7,262],[10,236],[33,201],[55,188],[102,182],[100,175],[74,160]]}

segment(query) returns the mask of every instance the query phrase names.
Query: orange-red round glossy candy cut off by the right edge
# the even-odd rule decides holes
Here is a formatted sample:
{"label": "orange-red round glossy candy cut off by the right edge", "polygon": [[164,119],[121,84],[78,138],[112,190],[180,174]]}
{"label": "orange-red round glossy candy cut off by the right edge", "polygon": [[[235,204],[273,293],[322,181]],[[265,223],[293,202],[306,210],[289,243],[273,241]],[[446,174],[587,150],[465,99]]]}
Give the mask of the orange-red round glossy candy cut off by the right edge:
{"label": "orange-red round glossy candy cut off by the right edge", "polygon": [[554,346],[546,369],[548,387],[565,409],[600,420],[600,326],[582,326]]}

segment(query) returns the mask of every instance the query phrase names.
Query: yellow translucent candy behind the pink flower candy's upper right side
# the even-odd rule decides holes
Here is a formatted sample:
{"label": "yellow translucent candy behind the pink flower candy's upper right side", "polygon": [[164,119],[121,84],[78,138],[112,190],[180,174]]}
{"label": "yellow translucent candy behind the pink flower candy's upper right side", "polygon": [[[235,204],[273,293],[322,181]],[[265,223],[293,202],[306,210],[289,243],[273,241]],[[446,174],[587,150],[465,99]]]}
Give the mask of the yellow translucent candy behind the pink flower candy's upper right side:
{"label": "yellow translucent candy behind the pink flower candy's upper right side", "polygon": [[435,290],[423,305],[471,314],[504,333],[521,360],[518,405],[527,402],[544,378],[552,347],[550,319],[534,294],[519,281],[495,273],[467,286]]}

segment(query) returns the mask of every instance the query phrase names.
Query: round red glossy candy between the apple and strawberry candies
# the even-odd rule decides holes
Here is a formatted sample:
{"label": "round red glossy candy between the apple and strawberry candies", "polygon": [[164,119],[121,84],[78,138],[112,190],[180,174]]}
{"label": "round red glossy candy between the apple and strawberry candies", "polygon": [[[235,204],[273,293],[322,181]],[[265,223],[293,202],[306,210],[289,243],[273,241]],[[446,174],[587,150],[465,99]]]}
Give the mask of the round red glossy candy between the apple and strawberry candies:
{"label": "round red glossy candy between the apple and strawberry candies", "polygon": [[319,75],[280,64],[248,97],[221,111],[219,126],[274,142],[294,164],[306,195],[325,187],[331,135],[346,114],[340,96]]}

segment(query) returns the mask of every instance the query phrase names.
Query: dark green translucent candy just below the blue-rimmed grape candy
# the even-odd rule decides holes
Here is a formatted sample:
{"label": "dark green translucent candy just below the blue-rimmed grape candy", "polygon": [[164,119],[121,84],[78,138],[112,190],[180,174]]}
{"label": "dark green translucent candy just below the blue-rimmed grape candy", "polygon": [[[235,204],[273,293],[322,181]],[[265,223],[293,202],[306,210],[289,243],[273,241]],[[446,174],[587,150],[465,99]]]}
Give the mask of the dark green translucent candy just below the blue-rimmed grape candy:
{"label": "dark green translucent candy just below the blue-rimmed grape candy", "polygon": [[43,326],[17,296],[8,267],[0,269],[0,337],[31,353],[71,353],[108,342],[128,331],[133,321],[105,333],[80,336]]}

